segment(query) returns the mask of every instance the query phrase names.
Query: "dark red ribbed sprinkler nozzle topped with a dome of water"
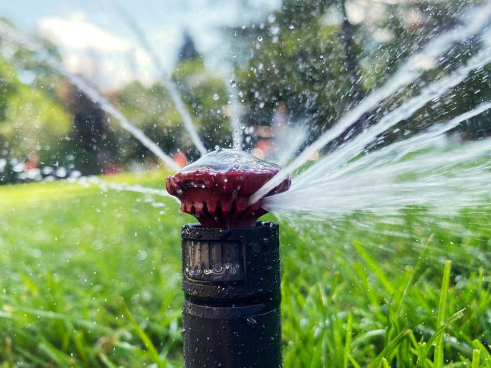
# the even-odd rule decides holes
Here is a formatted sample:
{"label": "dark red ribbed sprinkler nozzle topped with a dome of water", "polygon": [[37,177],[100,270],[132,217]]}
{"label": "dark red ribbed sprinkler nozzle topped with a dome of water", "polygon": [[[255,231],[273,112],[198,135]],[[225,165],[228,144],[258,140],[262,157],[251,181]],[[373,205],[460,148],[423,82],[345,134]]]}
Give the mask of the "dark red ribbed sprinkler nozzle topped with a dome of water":
{"label": "dark red ribbed sprinkler nozzle topped with a dome of water", "polygon": [[[169,194],[181,200],[181,211],[205,227],[252,227],[267,213],[261,201],[248,200],[281,170],[244,151],[218,149],[165,180]],[[286,178],[266,196],[288,190]]]}

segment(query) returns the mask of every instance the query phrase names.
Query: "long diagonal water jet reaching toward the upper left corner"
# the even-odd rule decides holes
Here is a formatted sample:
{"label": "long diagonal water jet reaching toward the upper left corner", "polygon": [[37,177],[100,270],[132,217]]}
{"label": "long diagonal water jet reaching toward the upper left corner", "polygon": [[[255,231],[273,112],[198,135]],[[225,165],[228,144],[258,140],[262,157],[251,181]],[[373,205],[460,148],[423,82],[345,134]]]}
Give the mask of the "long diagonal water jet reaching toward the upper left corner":
{"label": "long diagonal water jet reaching toward the upper left corner", "polygon": [[152,140],[145,135],[145,133],[132,125],[123,114],[118,111],[113,105],[111,105],[104,97],[102,97],[98,91],[86,84],[81,78],[68,72],[64,66],[52,57],[46,50],[44,50],[40,45],[32,42],[26,36],[21,34],[18,30],[7,26],[0,25],[0,31],[8,35],[12,40],[17,43],[23,44],[28,50],[38,55],[43,61],[51,65],[58,73],[60,73],[65,78],[69,79],[77,88],[79,88],[83,93],[95,102],[103,111],[113,116],[121,125],[121,127],[128,132],[130,132],[138,141],[140,141],[149,151],[154,153],[157,157],[163,160],[163,162],[172,170],[179,170],[180,167],[174,162],[174,160],[165,154],[160,147],[155,144]]}

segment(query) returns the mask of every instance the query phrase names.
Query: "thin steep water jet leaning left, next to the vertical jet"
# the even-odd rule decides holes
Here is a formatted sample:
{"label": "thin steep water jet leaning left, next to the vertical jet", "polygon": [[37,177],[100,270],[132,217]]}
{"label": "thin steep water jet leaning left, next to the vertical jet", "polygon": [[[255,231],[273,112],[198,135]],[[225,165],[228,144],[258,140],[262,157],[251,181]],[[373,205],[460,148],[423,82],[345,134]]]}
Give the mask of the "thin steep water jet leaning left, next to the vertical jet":
{"label": "thin steep water jet leaning left, next to the vertical jet", "polygon": [[150,58],[155,64],[155,67],[157,67],[157,70],[160,74],[161,81],[164,84],[165,89],[169,93],[170,99],[174,103],[175,109],[177,110],[178,113],[180,113],[181,118],[183,119],[184,127],[188,131],[188,134],[194,146],[197,148],[200,155],[202,156],[206,155],[208,153],[208,150],[206,149],[202,140],[199,138],[199,135],[196,131],[196,127],[193,124],[193,119],[191,118],[191,114],[187,110],[186,106],[184,106],[184,102],[179,92],[177,91],[177,87],[175,86],[174,82],[172,82],[172,80],[168,77],[159,56],[154,52],[153,48],[151,47],[150,42],[148,41],[145,35],[145,32],[143,32],[140,25],[127,12],[125,12],[121,8],[119,8],[118,11],[120,12],[123,19],[125,19],[129,28],[133,31],[133,33],[135,33],[135,35],[139,39],[141,45],[146,50],[148,55],[150,55]]}

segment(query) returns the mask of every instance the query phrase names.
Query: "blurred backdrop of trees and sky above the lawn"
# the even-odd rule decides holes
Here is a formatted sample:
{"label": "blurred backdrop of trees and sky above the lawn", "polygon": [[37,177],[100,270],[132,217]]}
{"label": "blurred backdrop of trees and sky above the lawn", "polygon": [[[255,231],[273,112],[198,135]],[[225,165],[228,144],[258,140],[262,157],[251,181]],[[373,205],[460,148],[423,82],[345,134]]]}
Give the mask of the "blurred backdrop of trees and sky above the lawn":
{"label": "blurred backdrop of trees and sky above the lawn", "polygon": [[[232,144],[235,106],[246,148],[273,157],[272,136],[302,133],[311,142],[422,44],[461,22],[474,3],[198,1],[143,7],[91,0],[14,2],[1,11],[4,24],[29,35],[101,91],[164,152],[180,151],[181,160],[193,160],[198,152],[163,78],[177,85],[208,149]],[[447,62],[421,60],[426,78],[448,73],[478,47],[478,39],[469,39],[452,49]],[[2,51],[0,182],[159,165],[114,118],[22,43],[6,35]],[[414,134],[440,121],[443,111],[451,118],[485,101],[487,73],[487,66],[475,72],[453,96],[428,104],[381,141]],[[401,90],[343,137],[414,95],[422,82]],[[476,84],[478,93],[468,91]],[[487,113],[477,119],[452,134],[463,140],[489,135]],[[57,167],[65,169],[58,176]]]}

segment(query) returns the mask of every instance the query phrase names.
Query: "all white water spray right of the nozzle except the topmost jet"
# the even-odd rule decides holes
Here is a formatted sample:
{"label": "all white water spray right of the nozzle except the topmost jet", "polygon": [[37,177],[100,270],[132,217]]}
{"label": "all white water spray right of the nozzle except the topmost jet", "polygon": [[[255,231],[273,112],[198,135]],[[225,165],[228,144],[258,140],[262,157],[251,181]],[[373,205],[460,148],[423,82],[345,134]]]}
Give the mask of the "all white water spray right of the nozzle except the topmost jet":
{"label": "all white water spray right of the nozzle except the topmost jet", "polygon": [[[472,70],[489,62],[488,45],[448,77],[423,88],[417,97],[390,111],[366,132],[300,173],[287,196],[264,198],[264,208],[334,218],[353,211],[394,215],[408,205],[431,205],[436,213],[455,214],[462,208],[482,204],[491,193],[491,165],[485,160],[491,154],[489,140],[459,148],[451,148],[446,142],[439,148],[436,143],[461,122],[491,108],[491,102],[405,141],[392,143],[358,160],[349,160],[363,153],[379,134],[409,118],[427,102],[463,81]],[[404,159],[421,150],[429,152]]]}

